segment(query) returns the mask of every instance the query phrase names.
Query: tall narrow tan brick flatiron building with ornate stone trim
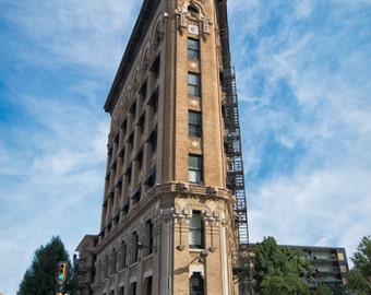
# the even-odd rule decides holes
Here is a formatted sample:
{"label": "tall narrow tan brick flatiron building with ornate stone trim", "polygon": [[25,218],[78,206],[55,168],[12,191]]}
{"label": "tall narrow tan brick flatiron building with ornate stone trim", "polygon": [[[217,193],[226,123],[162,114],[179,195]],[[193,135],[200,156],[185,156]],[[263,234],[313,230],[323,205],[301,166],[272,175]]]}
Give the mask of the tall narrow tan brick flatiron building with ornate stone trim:
{"label": "tall narrow tan brick flatiron building with ornate stone trim", "polygon": [[76,249],[82,294],[238,294],[248,233],[226,2],[143,1],[104,106],[101,222]]}

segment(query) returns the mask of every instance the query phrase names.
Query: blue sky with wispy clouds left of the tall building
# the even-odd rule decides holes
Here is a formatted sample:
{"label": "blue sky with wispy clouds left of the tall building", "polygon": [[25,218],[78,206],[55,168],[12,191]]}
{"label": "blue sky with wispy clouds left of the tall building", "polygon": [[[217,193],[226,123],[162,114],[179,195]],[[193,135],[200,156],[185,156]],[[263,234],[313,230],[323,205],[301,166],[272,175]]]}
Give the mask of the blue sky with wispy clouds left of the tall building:
{"label": "blue sky with wispy clouds left of the tall building", "polygon": [[[37,3],[36,3],[37,2]],[[97,233],[109,116],[103,105],[140,3],[0,4],[0,291],[34,250]],[[12,266],[12,267],[9,267]]]}

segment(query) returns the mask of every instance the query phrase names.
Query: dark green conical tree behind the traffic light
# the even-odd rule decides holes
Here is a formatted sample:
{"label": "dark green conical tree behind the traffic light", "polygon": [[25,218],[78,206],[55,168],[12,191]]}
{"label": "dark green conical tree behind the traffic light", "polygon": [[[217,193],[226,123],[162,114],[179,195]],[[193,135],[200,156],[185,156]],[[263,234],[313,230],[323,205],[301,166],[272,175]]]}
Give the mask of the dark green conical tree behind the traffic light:
{"label": "dark green conical tree behind the traffic light", "polygon": [[53,295],[58,261],[68,261],[68,281],[65,290],[76,294],[76,282],[72,280],[72,264],[69,253],[59,236],[55,236],[46,246],[36,249],[32,266],[26,270],[17,295]]}

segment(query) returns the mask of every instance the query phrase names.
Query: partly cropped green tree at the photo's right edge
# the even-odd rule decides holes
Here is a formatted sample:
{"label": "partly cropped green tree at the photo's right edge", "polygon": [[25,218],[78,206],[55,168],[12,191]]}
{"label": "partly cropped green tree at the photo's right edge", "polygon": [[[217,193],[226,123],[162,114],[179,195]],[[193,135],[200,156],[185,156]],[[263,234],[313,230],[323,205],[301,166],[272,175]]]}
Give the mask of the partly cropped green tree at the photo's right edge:
{"label": "partly cropped green tree at the photo's right edge", "polygon": [[347,274],[347,288],[358,295],[371,295],[371,237],[363,237],[351,258],[354,268]]}

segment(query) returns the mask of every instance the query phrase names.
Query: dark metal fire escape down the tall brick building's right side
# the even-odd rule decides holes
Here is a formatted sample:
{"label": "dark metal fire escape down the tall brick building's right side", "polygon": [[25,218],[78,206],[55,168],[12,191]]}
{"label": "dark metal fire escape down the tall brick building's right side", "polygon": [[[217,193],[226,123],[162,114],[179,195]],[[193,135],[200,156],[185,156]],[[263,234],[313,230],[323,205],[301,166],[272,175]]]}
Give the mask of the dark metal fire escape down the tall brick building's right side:
{"label": "dark metal fire escape down the tall brick building's right side", "polygon": [[236,227],[239,245],[235,249],[234,273],[239,284],[239,294],[253,294],[249,255],[248,209],[244,191],[241,131],[238,113],[235,69],[230,64],[227,1],[217,0],[218,32],[222,49],[220,84],[224,93],[223,115],[225,123],[224,146],[228,160],[227,188],[234,194]]}

